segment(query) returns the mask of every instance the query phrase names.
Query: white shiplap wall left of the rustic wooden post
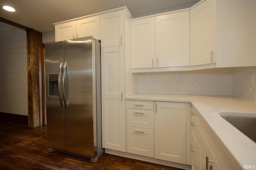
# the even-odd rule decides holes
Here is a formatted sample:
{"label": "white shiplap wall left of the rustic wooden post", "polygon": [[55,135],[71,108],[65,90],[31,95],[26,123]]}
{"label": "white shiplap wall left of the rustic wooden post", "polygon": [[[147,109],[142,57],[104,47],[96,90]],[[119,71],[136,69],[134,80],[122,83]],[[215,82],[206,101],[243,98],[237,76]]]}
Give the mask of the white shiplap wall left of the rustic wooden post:
{"label": "white shiplap wall left of the rustic wooden post", "polygon": [[0,112],[28,115],[27,82],[26,31],[0,22]]}

